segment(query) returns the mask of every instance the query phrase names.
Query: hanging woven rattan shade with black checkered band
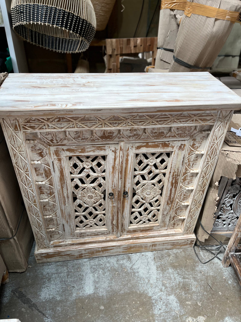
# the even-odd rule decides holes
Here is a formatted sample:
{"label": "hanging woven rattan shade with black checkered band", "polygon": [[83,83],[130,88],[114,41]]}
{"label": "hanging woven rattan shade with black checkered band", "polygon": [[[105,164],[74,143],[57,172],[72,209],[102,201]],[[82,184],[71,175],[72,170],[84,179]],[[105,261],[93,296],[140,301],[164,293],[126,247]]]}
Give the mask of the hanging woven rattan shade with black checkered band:
{"label": "hanging woven rattan shade with black checkered band", "polygon": [[83,52],[95,34],[90,0],[12,0],[14,31],[29,43],[56,52]]}

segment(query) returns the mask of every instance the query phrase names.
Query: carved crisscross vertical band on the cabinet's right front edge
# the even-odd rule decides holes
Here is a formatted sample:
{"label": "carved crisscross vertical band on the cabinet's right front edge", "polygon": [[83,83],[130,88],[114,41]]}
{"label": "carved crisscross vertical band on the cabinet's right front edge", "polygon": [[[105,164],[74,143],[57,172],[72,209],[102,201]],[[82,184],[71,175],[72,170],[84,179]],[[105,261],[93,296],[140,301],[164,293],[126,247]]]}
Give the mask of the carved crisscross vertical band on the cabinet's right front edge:
{"label": "carved crisscross vertical band on the cabinet's right front edge", "polygon": [[186,221],[184,234],[191,234],[194,230],[196,220],[199,215],[206,191],[208,189],[211,175],[216,165],[219,151],[222,147],[222,143],[232,114],[233,112],[219,111],[219,114],[217,116],[217,123],[212,129],[212,132],[210,134],[210,142],[206,147],[206,155],[204,156],[205,159],[202,168],[200,169],[200,177],[196,190],[194,191],[192,204],[190,205],[189,216]]}

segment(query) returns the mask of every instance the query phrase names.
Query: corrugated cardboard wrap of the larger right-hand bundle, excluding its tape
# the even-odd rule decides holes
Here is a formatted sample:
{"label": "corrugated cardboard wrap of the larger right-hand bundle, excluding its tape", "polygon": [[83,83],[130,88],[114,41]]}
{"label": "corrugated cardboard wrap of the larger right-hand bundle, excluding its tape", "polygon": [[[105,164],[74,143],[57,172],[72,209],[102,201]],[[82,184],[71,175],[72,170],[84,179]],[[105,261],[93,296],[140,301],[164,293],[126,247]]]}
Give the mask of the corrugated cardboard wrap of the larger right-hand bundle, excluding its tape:
{"label": "corrugated cardboard wrap of the larger right-hand bundle, excluding its tape", "polygon": [[[195,0],[195,3],[228,11],[241,11],[240,0]],[[233,26],[234,23],[229,20],[193,13],[190,17],[183,15],[169,72],[208,71]]]}

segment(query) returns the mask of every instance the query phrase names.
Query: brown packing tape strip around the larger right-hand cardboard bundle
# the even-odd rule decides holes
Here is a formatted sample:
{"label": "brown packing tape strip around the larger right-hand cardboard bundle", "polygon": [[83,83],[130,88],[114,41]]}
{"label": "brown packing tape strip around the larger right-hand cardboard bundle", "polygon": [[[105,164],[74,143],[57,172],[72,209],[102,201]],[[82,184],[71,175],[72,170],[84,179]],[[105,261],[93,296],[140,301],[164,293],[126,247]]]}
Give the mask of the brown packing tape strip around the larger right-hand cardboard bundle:
{"label": "brown packing tape strip around the larger right-hand cardboard bundle", "polygon": [[210,7],[209,5],[202,5],[200,3],[188,2],[186,3],[184,14],[188,17],[191,14],[199,14],[201,16],[229,20],[235,23],[239,19],[238,11],[229,11],[220,8]]}

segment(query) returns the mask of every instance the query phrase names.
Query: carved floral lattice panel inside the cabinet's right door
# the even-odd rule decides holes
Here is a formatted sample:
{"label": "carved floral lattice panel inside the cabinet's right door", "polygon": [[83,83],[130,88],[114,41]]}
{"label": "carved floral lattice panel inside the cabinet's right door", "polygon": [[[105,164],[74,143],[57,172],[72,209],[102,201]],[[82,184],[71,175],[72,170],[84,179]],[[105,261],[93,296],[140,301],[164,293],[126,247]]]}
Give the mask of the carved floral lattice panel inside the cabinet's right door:
{"label": "carved floral lattice panel inside the cabinet's right door", "polygon": [[135,155],[130,225],[158,220],[171,153]]}

